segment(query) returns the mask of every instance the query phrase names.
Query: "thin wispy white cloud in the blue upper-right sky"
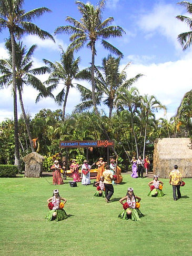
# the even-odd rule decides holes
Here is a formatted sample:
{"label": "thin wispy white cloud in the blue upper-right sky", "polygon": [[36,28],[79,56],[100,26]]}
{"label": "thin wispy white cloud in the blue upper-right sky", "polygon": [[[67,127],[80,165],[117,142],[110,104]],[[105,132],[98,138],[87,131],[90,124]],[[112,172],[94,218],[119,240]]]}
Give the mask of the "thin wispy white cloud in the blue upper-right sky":
{"label": "thin wispy white cloud in the blue upper-right sky", "polygon": [[146,38],[160,33],[173,42],[176,49],[180,49],[177,36],[181,32],[189,30],[186,24],[175,18],[181,14],[182,9],[180,6],[172,4],[155,5],[152,11],[140,17],[137,25],[147,32]]}

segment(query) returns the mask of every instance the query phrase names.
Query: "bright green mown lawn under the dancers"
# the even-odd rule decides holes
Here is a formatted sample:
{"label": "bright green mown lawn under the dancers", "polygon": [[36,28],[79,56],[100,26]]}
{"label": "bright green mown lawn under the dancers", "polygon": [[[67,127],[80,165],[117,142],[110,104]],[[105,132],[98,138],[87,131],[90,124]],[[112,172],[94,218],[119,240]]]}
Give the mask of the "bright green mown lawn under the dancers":
{"label": "bright green mown lawn under the dancers", "polygon": [[[110,203],[93,196],[93,185],[71,188],[69,179],[53,186],[51,176],[1,178],[0,255],[192,255],[192,179],[183,179],[182,197],[175,202],[169,180],[161,179],[163,198],[149,198],[149,179],[123,178]],[[142,198],[145,216],[138,222],[117,218],[128,186]],[[69,218],[49,222],[46,200],[55,188],[67,199]]]}

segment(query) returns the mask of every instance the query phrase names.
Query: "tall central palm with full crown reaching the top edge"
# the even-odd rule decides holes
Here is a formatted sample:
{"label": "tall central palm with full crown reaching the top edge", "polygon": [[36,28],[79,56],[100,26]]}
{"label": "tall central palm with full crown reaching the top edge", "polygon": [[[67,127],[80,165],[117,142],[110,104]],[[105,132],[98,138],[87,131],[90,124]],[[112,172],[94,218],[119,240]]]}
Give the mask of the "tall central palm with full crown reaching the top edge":
{"label": "tall central palm with full crown reaching the top edge", "polygon": [[111,26],[114,18],[109,17],[102,22],[102,13],[105,8],[106,0],[99,1],[97,6],[90,3],[76,1],[79,13],[82,15],[80,21],[67,16],[66,21],[72,25],[59,26],[55,30],[55,34],[66,33],[71,35],[69,48],[79,50],[85,43],[92,51],[92,100],[95,112],[98,114],[95,100],[95,80],[94,80],[94,65],[96,48],[95,43],[101,40],[101,44],[110,52],[123,56],[123,54],[112,44],[106,41],[108,38],[121,37],[125,33],[120,26]]}

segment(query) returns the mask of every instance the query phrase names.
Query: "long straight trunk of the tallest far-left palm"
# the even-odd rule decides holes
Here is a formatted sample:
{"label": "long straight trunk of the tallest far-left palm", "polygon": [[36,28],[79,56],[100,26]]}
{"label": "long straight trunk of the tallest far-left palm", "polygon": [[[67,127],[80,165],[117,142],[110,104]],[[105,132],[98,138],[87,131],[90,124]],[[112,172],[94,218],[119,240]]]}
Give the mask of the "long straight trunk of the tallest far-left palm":
{"label": "long straight trunk of the tallest far-left palm", "polygon": [[15,165],[21,169],[21,159],[19,155],[18,140],[18,120],[17,120],[17,92],[16,92],[16,73],[15,73],[15,38],[13,31],[9,29],[12,42],[12,68],[13,68],[13,106],[14,106],[14,139],[15,139]]}

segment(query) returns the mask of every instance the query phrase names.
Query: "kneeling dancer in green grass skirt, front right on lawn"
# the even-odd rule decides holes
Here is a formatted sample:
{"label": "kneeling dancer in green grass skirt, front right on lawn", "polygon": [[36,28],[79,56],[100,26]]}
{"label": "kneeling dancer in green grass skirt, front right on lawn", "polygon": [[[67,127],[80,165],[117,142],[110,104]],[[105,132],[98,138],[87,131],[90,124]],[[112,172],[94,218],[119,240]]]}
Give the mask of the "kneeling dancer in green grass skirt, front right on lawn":
{"label": "kneeling dancer in green grass skirt, front right on lawn", "polygon": [[[138,201],[136,201],[136,199]],[[126,200],[126,203],[123,203],[124,200]],[[118,218],[140,221],[140,218],[144,216],[139,210],[140,200],[137,195],[134,195],[133,188],[128,188],[127,195],[119,200],[119,202],[123,204],[124,210],[118,215]]]}

